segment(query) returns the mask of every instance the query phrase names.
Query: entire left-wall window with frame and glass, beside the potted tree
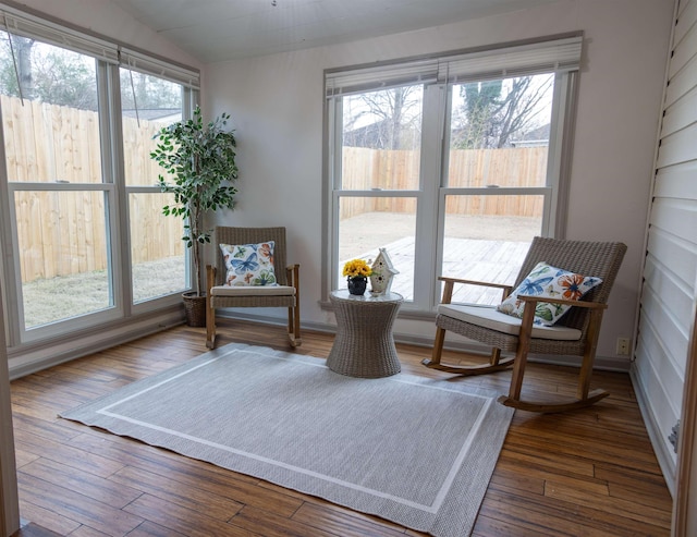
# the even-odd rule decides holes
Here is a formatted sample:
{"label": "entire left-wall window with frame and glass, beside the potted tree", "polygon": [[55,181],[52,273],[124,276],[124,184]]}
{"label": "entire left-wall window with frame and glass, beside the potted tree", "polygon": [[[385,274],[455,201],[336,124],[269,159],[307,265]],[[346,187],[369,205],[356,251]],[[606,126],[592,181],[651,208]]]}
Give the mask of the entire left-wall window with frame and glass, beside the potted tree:
{"label": "entire left-wall window with frame and glass, beside the potted tree", "polygon": [[197,74],[13,10],[2,15],[10,344],[178,300],[188,288],[181,221],[162,216],[149,152],[159,127],[191,112]]}

